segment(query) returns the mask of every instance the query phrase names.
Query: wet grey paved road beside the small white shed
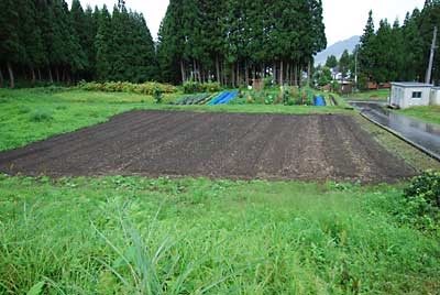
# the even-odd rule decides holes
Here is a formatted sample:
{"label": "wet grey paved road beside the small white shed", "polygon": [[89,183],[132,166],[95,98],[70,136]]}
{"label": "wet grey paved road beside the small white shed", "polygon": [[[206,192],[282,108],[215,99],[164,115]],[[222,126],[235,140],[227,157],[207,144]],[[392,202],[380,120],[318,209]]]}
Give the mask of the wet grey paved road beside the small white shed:
{"label": "wet grey paved road beside the small white shed", "polygon": [[392,130],[440,161],[440,125],[425,123],[389,111],[384,102],[349,100],[351,106],[372,121]]}

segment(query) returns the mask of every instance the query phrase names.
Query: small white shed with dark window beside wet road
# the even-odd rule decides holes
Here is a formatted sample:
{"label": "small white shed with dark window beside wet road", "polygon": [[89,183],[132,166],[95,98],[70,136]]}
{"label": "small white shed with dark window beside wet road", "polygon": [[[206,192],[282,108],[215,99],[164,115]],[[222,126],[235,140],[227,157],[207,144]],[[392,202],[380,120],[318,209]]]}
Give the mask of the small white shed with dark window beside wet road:
{"label": "small white shed with dark window beside wet road", "polygon": [[429,106],[432,85],[422,83],[392,83],[389,105],[400,109]]}

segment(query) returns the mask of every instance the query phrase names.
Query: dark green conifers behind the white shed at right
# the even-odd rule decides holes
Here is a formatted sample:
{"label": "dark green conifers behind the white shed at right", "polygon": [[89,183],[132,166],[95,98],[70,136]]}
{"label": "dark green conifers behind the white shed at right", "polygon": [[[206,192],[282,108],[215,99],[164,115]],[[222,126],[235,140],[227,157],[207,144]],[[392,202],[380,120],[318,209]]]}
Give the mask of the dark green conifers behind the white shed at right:
{"label": "dark green conifers behind the white shed at right", "polygon": [[[377,31],[370,12],[359,50],[359,68],[366,79],[424,80],[433,28],[440,28],[440,2],[428,2],[421,11],[408,12],[403,25],[398,20],[393,24],[381,20]],[[432,76],[433,81],[439,80],[440,68],[435,67]]]}

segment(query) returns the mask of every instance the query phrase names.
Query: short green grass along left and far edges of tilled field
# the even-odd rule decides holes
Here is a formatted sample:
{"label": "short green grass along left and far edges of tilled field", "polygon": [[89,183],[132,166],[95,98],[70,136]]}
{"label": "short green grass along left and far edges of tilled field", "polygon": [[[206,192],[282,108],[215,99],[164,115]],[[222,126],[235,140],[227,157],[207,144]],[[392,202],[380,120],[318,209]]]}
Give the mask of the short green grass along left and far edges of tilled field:
{"label": "short green grass along left and far edges of tilled field", "polygon": [[343,108],[285,106],[169,106],[182,95],[167,95],[156,105],[151,96],[95,92],[75,89],[0,89],[0,151],[107,121],[133,110],[190,110],[217,112],[346,113]]}

